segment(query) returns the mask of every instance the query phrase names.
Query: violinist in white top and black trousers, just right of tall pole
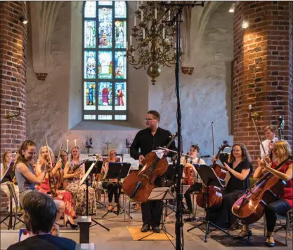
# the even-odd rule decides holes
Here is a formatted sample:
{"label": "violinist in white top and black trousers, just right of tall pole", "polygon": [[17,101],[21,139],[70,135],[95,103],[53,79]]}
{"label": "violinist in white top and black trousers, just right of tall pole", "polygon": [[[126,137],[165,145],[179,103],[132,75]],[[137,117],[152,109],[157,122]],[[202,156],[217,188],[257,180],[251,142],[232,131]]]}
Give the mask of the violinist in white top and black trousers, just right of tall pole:
{"label": "violinist in white top and black trousers, just right of tall pole", "polygon": [[[192,174],[191,176],[184,176],[185,178],[192,178],[193,183],[190,183],[190,188],[185,192],[184,197],[185,197],[185,202],[187,204],[188,209],[183,209],[183,214],[190,214],[193,211],[193,204],[191,202],[191,197],[190,193],[193,193],[195,191],[200,190],[202,188],[202,179],[197,174],[197,171],[195,169],[195,166],[193,166],[193,163],[195,164],[206,164],[204,160],[197,158],[197,153],[200,152],[200,147],[195,145],[190,146],[190,151],[187,153],[190,155],[190,158],[181,158],[181,162],[184,164],[184,169],[183,172],[186,174],[188,173],[187,170],[188,168],[190,169],[190,173]],[[183,179],[184,183],[184,179]]]}

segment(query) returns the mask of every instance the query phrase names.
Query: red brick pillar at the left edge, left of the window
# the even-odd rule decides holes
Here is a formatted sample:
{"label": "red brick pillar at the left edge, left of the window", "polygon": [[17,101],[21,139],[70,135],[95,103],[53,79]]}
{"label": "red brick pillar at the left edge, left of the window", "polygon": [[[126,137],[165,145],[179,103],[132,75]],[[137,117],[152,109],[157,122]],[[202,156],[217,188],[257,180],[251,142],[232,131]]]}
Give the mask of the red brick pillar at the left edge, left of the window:
{"label": "red brick pillar at the left edge, left of the window", "polygon": [[[25,139],[27,27],[19,20],[23,15],[27,15],[25,1],[0,2],[1,156],[16,151]],[[8,120],[8,111],[16,112],[18,102],[20,116]]]}

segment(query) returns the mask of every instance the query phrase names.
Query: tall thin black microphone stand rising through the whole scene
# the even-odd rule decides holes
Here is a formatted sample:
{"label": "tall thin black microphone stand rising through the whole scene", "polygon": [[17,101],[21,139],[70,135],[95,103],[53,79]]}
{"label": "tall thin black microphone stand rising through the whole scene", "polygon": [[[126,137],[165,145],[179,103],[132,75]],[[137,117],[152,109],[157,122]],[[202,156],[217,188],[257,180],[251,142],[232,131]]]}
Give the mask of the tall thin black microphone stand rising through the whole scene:
{"label": "tall thin black microphone stand rising through the whole scene", "polygon": [[[183,22],[183,7],[190,6],[202,6],[204,7],[204,1],[201,1],[201,4],[197,4],[197,1],[193,1],[193,4],[167,4],[166,2],[162,3],[162,6],[174,6],[178,7],[174,12],[174,18],[171,20],[172,24],[176,24],[176,66],[175,66],[175,78],[176,78],[176,97],[177,97],[177,133],[178,133],[178,148],[177,148],[177,163],[176,163],[176,225],[175,225],[175,234],[176,234],[176,250],[184,249],[183,242],[181,242],[181,237],[183,237],[183,216],[182,216],[182,200],[183,200],[183,186],[182,186],[182,169],[180,167],[180,158],[181,158],[181,106],[180,106],[180,55],[181,55],[181,22]],[[166,12],[167,12],[166,11]]]}

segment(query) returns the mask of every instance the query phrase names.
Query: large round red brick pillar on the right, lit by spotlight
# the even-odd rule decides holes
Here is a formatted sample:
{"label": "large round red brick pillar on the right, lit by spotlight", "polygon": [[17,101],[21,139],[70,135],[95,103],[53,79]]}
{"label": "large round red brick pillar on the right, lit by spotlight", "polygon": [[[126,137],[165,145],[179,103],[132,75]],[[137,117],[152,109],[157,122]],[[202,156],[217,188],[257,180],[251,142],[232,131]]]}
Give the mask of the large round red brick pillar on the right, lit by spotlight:
{"label": "large round red brick pillar on the right, lit by spotlight", "polygon": [[[242,21],[249,27],[242,29]],[[292,146],[292,2],[241,1],[234,13],[234,141],[247,145],[252,159],[259,141],[249,104],[259,113],[256,126],[263,138],[266,125],[285,118],[283,139]]]}

